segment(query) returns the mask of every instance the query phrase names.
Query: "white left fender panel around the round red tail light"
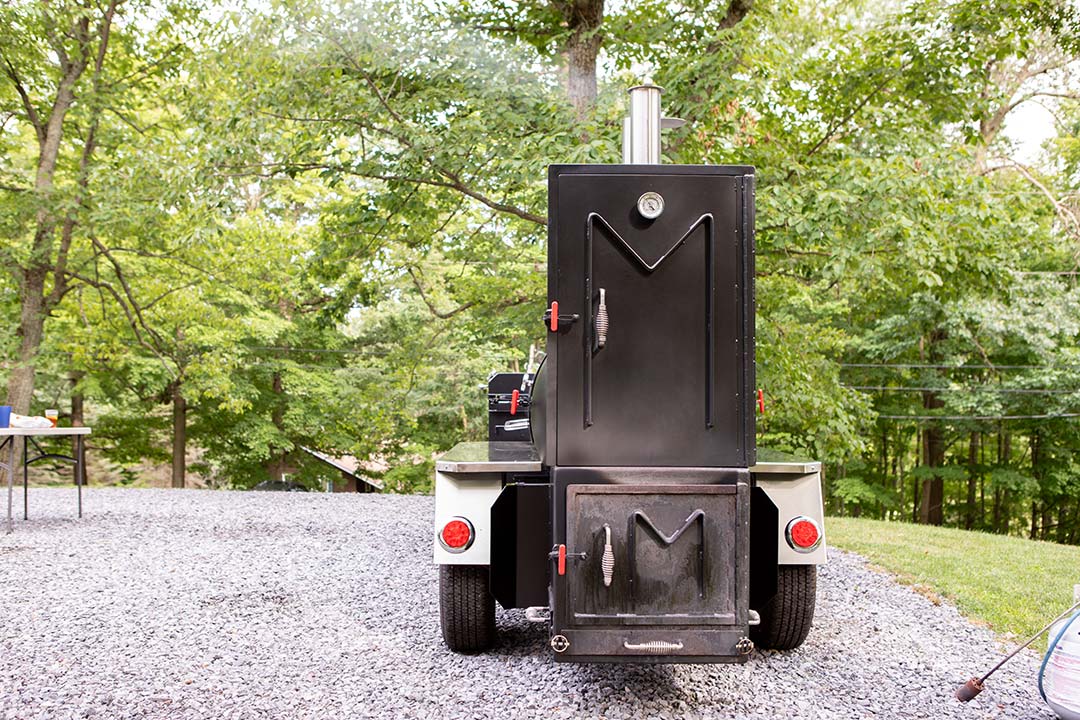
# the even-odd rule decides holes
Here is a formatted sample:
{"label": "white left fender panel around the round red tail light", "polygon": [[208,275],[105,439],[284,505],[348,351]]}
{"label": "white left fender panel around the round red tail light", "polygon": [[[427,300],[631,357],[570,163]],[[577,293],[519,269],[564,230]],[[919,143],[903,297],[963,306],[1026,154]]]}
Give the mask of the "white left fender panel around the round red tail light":
{"label": "white left fender panel around the round red tail light", "polygon": [[[432,551],[436,565],[491,563],[491,505],[502,491],[502,473],[435,472],[435,527]],[[473,530],[472,542],[451,552],[441,541],[447,522],[465,520]]]}

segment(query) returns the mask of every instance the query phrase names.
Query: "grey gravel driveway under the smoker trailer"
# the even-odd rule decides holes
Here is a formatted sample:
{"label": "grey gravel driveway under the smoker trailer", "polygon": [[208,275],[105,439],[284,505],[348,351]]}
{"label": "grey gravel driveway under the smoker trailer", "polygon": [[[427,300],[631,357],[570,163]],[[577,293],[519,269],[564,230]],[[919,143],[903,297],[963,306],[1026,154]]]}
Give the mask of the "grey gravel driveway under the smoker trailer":
{"label": "grey gravel driveway under the smoker trailer", "polygon": [[[22,498],[16,494],[16,506]],[[831,551],[816,625],[745,665],[556,665],[499,611],[486,655],[438,634],[424,497],[30,491],[0,535],[0,718],[1052,718],[1022,654]]]}

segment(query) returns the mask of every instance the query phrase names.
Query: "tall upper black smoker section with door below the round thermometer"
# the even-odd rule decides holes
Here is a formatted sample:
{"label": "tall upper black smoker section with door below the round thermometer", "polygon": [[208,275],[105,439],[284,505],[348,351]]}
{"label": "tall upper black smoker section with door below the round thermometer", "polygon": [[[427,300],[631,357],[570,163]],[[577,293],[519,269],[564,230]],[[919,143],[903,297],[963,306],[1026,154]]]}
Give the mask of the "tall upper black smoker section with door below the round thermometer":
{"label": "tall upper black smoker section with door below the round thermometer", "polygon": [[[552,464],[753,463],[751,172],[552,166],[549,302],[578,315],[549,332]],[[649,191],[654,220],[637,210]]]}

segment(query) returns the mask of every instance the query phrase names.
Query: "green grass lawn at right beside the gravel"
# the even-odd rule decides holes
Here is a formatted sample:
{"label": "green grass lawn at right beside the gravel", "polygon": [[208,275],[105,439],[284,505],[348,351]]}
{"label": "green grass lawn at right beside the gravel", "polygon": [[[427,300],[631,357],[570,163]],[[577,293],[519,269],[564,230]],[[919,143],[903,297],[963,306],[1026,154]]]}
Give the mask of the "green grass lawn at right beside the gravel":
{"label": "green grass lawn at right beside the gravel", "polygon": [[1026,639],[1072,604],[1072,585],[1080,583],[1080,547],[850,517],[827,518],[825,533],[831,544],[1014,639]]}

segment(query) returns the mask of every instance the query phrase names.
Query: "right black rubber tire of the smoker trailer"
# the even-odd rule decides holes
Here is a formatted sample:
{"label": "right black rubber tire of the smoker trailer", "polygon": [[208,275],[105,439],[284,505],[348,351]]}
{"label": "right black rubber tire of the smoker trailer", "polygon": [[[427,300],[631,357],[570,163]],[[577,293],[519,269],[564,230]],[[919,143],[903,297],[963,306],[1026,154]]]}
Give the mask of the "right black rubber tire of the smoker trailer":
{"label": "right black rubber tire of the smoker trailer", "polygon": [[777,594],[757,611],[759,625],[751,625],[750,639],[758,648],[794,650],[813,625],[818,599],[818,566],[782,565],[777,568]]}

